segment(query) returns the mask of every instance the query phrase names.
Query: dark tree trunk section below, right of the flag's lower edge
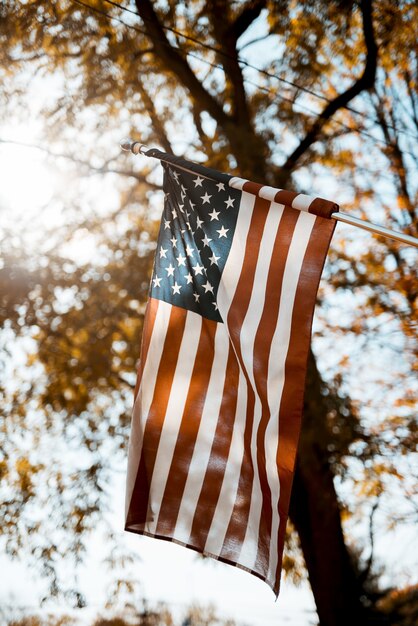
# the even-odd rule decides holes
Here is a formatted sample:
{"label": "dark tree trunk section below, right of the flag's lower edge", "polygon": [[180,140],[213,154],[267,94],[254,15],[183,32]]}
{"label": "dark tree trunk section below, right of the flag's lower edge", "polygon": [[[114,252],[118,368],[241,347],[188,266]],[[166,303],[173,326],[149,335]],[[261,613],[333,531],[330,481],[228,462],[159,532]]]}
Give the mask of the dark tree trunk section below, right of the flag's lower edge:
{"label": "dark tree trunk section below, right of the flag's lower edge", "polygon": [[[344,542],[340,508],[326,449],[322,381],[311,355],[290,518],[299,534],[321,626],[363,626],[361,585]],[[325,440],[325,441],[324,441]]]}

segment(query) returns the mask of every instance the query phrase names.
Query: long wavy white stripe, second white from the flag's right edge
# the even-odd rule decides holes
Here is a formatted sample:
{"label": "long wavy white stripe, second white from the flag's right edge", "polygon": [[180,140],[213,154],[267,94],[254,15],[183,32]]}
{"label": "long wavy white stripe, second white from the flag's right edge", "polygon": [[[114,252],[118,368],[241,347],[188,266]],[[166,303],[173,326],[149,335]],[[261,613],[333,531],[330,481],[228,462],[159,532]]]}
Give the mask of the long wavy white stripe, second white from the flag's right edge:
{"label": "long wavy white stripe, second white from the flag's right edge", "polygon": [[[277,229],[283,215],[283,209],[284,207],[281,204],[272,203],[270,205],[267,219],[264,225],[263,236],[260,242],[260,252],[257,259],[254,283],[252,285],[251,299],[244,322],[241,327],[240,334],[242,359],[244,361],[245,369],[248,373],[251,385],[255,393],[254,423],[251,436],[251,453],[253,457],[254,480],[252,485],[248,525],[239,558],[240,564],[250,569],[254,569],[257,557],[259,524],[263,504],[263,494],[261,491],[257,463],[257,432],[260,426],[262,406],[255,384],[253,359],[254,343],[261,316],[263,314],[264,304],[266,300],[267,278],[269,274],[274,243],[276,240]],[[248,288],[250,287],[251,285],[248,285]]]}

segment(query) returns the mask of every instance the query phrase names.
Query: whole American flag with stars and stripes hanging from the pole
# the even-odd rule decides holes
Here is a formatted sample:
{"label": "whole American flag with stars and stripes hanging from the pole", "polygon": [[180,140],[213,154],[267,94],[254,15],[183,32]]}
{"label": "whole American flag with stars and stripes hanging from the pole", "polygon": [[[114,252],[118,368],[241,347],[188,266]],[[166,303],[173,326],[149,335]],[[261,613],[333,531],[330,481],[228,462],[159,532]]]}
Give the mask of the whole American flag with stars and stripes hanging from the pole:
{"label": "whole American flag with stars and stripes hanging from the pole", "polygon": [[242,568],[278,594],[315,298],[338,207],[170,158],[125,529]]}

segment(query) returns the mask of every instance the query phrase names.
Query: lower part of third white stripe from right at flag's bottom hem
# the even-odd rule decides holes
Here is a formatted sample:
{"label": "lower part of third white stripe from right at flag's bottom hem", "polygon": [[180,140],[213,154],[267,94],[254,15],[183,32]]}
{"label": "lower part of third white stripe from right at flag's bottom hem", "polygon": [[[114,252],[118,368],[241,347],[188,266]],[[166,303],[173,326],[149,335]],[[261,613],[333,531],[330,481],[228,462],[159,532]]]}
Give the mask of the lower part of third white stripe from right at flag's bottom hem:
{"label": "lower part of third white stripe from right at flag's bottom hem", "polygon": [[231,447],[229,449],[228,462],[225,468],[224,480],[218,503],[209,529],[205,544],[205,552],[219,556],[222,551],[226,531],[238,490],[238,482],[241,473],[242,459],[244,456],[244,430],[247,408],[247,383],[240,371],[237,391],[237,408],[235,411],[234,428],[232,431]]}

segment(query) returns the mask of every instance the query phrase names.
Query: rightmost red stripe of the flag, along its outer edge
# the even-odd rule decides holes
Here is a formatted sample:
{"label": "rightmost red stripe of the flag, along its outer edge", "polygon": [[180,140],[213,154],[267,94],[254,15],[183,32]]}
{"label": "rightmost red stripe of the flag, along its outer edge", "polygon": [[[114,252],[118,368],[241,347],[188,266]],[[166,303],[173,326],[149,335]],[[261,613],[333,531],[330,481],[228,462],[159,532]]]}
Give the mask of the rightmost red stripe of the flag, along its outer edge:
{"label": "rightmost red stripe of the flag, along its outer edge", "polygon": [[319,280],[335,221],[317,217],[306,249],[296,290],[289,350],[285,364],[285,384],[279,412],[277,464],[280,477],[278,564],[274,591],[280,586],[286,521],[289,510],[296,450],[305,390],[307,358],[311,341],[312,319]]}

